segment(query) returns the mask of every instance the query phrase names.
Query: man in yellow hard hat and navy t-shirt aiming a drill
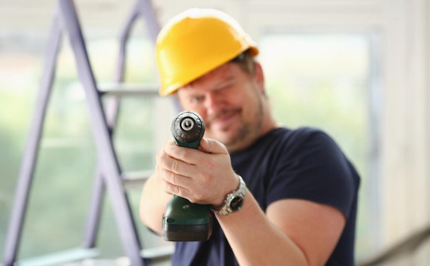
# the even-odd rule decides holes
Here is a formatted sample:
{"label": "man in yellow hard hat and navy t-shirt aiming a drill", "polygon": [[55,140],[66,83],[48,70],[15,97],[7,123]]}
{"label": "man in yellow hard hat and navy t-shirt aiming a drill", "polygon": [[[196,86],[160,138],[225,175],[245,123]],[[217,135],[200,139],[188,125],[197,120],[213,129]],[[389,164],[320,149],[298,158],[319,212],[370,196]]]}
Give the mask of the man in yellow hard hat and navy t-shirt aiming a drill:
{"label": "man in yellow hard hat and navy t-shirt aiming a drill", "polygon": [[[278,126],[257,54],[217,10],[187,10],[163,27],[160,94],[199,113],[205,135],[199,150],[161,148],[142,222],[161,235],[172,195],[212,206],[210,239],[176,243],[172,265],[354,265],[359,176],[324,132]],[[241,208],[227,206],[231,195],[245,195]]]}

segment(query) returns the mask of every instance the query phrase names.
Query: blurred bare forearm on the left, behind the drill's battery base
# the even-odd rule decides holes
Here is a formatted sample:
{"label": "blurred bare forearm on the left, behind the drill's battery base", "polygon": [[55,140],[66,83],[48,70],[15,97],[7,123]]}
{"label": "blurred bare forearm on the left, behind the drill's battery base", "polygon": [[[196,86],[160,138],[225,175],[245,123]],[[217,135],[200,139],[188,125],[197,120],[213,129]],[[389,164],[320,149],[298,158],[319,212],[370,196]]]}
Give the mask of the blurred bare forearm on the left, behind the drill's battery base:
{"label": "blurred bare forearm on the left, behind the drill's battery base", "polygon": [[140,219],[148,228],[160,235],[163,232],[163,213],[170,199],[172,199],[172,195],[168,195],[161,189],[155,176],[146,181],[140,199]]}

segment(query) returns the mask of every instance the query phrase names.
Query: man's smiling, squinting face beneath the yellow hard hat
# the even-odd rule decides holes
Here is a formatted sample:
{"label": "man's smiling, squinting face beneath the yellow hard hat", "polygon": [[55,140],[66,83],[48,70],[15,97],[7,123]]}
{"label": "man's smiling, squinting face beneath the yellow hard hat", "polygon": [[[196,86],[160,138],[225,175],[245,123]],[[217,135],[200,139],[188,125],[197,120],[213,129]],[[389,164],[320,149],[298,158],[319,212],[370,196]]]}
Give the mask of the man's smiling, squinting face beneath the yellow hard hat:
{"label": "man's smiling, squinting face beneath the yellow hard hat", "polygon": [[253,143],[262,133],[264,80],[260,65],[252,77],[227,63],[179,89],[184,110],[199,113],[205,137],[218,140],[229,151]]}

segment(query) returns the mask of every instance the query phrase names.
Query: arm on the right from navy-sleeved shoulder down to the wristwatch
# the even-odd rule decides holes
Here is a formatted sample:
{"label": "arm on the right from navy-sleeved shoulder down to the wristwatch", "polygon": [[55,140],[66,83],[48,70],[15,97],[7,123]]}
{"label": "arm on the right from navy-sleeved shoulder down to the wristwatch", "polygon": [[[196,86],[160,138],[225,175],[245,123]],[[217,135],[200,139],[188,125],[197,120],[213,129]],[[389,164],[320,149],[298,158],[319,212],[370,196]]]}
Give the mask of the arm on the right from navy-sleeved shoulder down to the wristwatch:
{"label": "arm on the right from navy-sleeved shoulder down to the wristwatch", "polygon": [[[265,214],[249,193],[242,210],[217,215],[243,265],[325,265],[346,226],[344,213],[352,205],[354,188],[346,181],[350,172],[337,147],[319,133],[304,135],[295,145],[286,150],[294,163],[277,161],[279,168],[273,169],[279,174],[267,181],[271,203]],[[283,193],[290,198],[283,199]],[[327,205],[304,200],[310,198]]]}

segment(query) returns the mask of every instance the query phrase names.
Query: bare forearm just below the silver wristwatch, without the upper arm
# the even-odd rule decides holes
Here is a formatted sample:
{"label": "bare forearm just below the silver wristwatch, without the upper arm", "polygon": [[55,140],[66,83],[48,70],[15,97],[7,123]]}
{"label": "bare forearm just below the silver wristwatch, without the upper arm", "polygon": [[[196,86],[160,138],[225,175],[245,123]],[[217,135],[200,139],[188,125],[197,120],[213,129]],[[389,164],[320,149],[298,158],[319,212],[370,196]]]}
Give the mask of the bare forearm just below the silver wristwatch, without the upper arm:
{"label": "bare forearm just below the silver wristwatch, without the upper arm", "polygon": [[239,212],[216,217],[240,265],[308,265],[302,250],[267,219],[249,191]]}

